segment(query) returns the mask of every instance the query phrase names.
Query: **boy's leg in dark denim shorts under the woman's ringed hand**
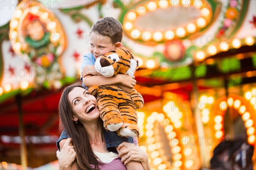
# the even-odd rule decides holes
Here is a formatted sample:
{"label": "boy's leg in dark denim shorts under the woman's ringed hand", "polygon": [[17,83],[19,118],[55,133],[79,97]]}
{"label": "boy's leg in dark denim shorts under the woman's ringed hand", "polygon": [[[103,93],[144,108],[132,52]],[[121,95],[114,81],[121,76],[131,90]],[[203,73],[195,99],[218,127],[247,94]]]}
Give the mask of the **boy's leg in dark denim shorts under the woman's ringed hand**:
{"label": "boy's leg in dark denim shorts under the woman's ringed hand", "polygon": [[[111,131],[104,131],[105,136],[105,142],[107,145],[107,149],[114,153],[119,153],[120,150],[126,149],[127,147],[122,147],[120,150],[117,150],[116,148],[121,144],[122,142],[128,142],[128,143],[134,143],[132,137],[121,137],[116,134],[116,132]],[[142,164],[137,161],[130,161],[128,164],[126,164],[127,170],[143,170]]]}

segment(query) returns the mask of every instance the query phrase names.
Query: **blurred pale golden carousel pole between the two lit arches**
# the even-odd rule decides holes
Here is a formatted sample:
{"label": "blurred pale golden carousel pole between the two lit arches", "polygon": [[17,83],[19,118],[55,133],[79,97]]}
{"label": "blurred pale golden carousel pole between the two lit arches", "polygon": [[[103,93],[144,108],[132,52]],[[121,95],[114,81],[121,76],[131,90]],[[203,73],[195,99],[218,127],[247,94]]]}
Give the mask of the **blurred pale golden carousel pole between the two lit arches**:
{"label": "blurred pale golden carousel pole between the two lit arches", "polygon": [[[192,99],[194,99],[195,104],[198,104],[199,93],[198,93],[198,86],[196,85],[195,65],[193,64],[191,68],[192,68],[192,86],[193,86]],[[191,110],[196,123],[198,139],[200,139],[199,150],[200,150],[201,161],[202,161],[201,169],[206,170],[207,167],[209,167],[209,162],[208,162],[209,159],[207,156],[206,139],[204,135],[204,125],[201,119],[201,113],[198,108],[194,108],[194,109],[191,108]]]}

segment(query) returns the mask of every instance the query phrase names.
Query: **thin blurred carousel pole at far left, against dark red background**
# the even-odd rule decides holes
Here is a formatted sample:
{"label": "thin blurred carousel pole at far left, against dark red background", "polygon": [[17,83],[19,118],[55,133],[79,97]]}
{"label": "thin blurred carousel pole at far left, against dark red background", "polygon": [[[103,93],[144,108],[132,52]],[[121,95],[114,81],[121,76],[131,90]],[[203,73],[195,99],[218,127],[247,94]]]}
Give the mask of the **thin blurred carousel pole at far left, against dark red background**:
{"label": "thin blurred carousel pole at far left, against dark red background", "polygon": [[23,170],[27,169],[27,148],[26,148],[26,139],[24,133],[24,124],[23,124],[23,112],[21,107],[21,96],[18,94],[15,96],[18,108],[19,115],[19,136],[22,140],[20,140],[20,163]]}

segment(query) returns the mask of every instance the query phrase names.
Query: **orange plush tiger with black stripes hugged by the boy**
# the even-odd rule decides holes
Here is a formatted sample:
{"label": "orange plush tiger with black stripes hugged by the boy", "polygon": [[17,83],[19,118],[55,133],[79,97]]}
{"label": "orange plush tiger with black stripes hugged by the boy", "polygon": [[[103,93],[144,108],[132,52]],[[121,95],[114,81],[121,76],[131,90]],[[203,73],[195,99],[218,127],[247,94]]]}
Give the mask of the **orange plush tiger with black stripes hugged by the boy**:
{"label": "orange plush tiger with black stripes hugged by the boy", "polygon": [[[137,61],[124,47],[100,56],[95,62],[96,71],[105,77],[116,74],[132,76],[136,68]],[[140,93],[135,89],[128,93],[117,85],[93,85],[88,91],[97,99],[100,118],[106,130],[117,130],[119,136],[139,136],[136,109],[144,104]]]}

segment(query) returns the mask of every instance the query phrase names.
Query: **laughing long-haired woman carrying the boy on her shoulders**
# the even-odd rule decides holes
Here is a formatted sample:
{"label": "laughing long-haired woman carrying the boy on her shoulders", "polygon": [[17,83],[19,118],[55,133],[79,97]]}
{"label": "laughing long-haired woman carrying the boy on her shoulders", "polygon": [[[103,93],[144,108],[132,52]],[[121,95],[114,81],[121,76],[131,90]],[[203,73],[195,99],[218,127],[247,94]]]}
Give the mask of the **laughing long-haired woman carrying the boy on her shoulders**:
{"label": "laughing long-haired woman carrying the boy on her shoulders", "polygon": [[59,142],[59,168],[125,170],[129,161],[137,161],[143,169],[150,169],[147,154],[134,144],[120,144],[118,150],[127,148],[122,149],[119,156],[106,149],[103,123],[96,105],[96,98],[81,85],[70,85],[63,91],[59,103],[60,122],[72,143],[70,138]]}

